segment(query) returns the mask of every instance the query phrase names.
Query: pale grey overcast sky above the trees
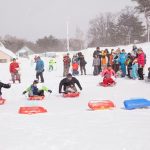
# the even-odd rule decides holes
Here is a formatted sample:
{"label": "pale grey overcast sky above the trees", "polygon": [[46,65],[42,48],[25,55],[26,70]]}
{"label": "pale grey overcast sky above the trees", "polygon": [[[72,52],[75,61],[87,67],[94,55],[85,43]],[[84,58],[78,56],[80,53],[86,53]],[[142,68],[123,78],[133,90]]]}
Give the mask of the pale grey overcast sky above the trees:
{"label": "pale grey overcast sky above the trees", "polygon": [[69,35],[76,27],[84,32],[89,21],[100,12],[118,12],[131,0],[0,0],[0,36],[10,34],[35,41],[50,34],[66,37],[66,21]]}

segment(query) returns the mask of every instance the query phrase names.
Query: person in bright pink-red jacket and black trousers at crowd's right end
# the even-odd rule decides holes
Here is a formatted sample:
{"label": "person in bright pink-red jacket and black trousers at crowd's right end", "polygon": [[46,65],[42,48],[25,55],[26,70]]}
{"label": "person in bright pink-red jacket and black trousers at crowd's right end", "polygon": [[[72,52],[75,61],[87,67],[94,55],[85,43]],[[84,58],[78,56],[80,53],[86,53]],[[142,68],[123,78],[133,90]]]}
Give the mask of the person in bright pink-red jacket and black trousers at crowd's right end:
{"label": "person in bright pink-red jacket and black trousers at crowd's right end", "polygon": [[144,80],[144,76],[143,76],[143,68],[145,66],[145,54],[142,50],[142,48],[139,48],[138,51],[138,75],[139,75],[139,80]]}

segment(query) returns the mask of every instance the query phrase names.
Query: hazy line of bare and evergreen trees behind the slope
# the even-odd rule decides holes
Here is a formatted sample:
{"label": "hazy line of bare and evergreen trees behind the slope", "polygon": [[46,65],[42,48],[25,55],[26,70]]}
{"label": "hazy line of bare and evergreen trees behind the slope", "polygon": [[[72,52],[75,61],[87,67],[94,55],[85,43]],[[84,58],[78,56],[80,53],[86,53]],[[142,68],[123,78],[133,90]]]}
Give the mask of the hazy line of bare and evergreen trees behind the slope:
{"label": "hazy line of bare and evergreen trees behind the slope", "polygon": [[[117,46],[149,41],[150,0],[132,0],[137,5],[126,7],[120,12],[99,14],[89,22],[86,35],[76,29],[75,38],[70,38],[70,50],[86,47]],[[140,16],[144,15],[144,18]],[[87,37],[86,39],[84,37]],[[27,46],[35,53],[46,51],[67,51],[66,39],[58,39],[53,35],[45,36],[35,42],[27,41],[10,35],[0,38],[6,48],[13,52]],[[86,45],[85,45],[86,43]]]}

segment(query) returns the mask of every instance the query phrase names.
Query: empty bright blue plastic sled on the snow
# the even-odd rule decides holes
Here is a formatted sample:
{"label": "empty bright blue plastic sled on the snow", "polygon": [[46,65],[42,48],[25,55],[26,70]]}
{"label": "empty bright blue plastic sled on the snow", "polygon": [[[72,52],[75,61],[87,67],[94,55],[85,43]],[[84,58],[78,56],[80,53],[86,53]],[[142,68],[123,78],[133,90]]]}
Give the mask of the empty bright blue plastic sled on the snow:
{"label": "empty bright blue plastic sled on the snow", "polygon": [[124,106],[128,110],[136,108],[144,108],[150,106],[150,101],[144,98],[130,99],[124,101]]}

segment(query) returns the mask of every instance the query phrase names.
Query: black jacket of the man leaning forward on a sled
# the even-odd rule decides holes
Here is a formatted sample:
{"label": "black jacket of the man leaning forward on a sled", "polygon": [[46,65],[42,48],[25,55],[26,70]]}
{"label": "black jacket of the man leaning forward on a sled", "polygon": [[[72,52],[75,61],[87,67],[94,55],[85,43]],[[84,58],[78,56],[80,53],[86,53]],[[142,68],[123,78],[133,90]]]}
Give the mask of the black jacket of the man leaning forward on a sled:
{"label": "black jacket of the man leaning forward on a sled", "polygon": [[80,82],[75,77],[72,77],[71,80],[68,80],[67,78],[64,78],[63,80],[60,81],[59,93],[61,93],[62,86],[64,86],[63,88],[64,88],[64,91],[65,91],[67,86],[71,86],[71,85],[75,86],[75,84],[77,84],[79,89],[82,90]]}

